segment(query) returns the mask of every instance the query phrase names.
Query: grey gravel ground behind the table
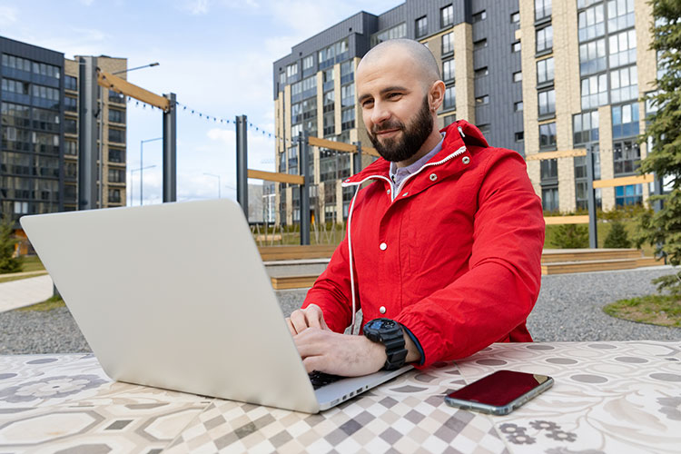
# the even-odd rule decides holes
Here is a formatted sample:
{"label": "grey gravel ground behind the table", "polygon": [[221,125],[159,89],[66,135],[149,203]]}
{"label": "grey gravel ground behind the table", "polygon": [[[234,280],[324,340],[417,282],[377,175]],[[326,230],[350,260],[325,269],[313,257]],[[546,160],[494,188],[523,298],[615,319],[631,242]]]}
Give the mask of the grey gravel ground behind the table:
{"label": "grey gravel ground behind the table", "polygon": [[[606,315],[608,302],[655,291],[650,281],[670,267],[543,276],[528,329],[535,341],[635,341],[681,339],[681,329],[623,321]],[[277,291],[288,315],[306,291]],[[66,308],[0,313],[0,354],[90,351]]]}

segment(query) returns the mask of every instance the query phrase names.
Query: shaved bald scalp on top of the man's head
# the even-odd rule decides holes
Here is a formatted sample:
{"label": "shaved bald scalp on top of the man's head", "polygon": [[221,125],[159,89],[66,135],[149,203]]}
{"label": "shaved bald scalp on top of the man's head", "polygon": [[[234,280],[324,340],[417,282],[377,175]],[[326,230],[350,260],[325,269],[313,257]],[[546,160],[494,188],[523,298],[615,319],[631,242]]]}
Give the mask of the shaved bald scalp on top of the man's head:
{"label": "shaved bald scalp on top of the man's head", "polygon": [[396,58],[411,60],[419,81],[426,87],[441,79],[435,56],[426,45],[411,39],[390,39],[380,43],[362,57],[357,71],[359,73],[365,67],[394,62]]}

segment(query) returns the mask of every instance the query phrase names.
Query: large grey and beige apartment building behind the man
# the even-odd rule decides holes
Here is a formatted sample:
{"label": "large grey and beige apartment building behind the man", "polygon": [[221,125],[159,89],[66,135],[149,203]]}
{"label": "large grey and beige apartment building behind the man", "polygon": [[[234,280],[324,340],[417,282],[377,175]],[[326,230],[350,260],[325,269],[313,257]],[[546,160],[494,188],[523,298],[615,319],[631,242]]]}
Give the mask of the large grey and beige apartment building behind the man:
{"label": "large grey and beige apartment building behind the man", "polygon": [[[380,15],[360,12],[296,44],[273,64],[277,172],[297,174],[293,139],[301,131],[370,145],[356,103],[354,72],[382,41],[428,45],[447,85],[439,127],[476,124],[489,143],[526,157],[590,147],[596,178],[636,173],[645,146],[646,106],[654,90],[649,50],[651,8],[645,0],[406,0]],[[540,157],[540,156],[539,156]],[[354,173],[348,153],[311,148],[311,216],[341,222]],[[528,159],[547,211],[586,208],[586,157]],[[278,222],[300,219],[295,186],[276,186]],[[597,191],[604,209],[641,202],[647,185]]]}

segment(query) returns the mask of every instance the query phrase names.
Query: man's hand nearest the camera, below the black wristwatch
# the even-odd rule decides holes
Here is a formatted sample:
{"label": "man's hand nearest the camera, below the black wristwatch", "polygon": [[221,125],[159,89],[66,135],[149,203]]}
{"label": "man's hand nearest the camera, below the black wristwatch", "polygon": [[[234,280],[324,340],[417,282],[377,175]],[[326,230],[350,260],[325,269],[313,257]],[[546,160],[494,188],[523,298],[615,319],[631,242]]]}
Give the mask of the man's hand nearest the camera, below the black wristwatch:
{"label": "man's hand nearest the camera, below the black wristwatch", "polygon": [[364,336],[308,328],[293,336],[293,341],[308,372],[359,377],[380,370],[386,361],[385,346]]}

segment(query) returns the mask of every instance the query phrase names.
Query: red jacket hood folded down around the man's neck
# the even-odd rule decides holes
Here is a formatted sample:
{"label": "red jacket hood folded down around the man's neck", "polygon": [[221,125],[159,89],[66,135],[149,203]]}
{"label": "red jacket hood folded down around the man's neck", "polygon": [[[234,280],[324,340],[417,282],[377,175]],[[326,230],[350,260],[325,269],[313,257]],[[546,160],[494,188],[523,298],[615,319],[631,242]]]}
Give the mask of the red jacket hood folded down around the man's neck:
{"label": "red jacket hood folded down around the man's neck", "polygon": [[[462,146],[478,146],[486,148],[488,147],[487,140],[485,136],[480,133],[480,130],[474,124],[467,122],[466,120],[458,120],[454,123],[449,124],[439,130],[440,133],[445,133],[445,140],[442,143],[442,150],[435,156],[433,156],[429,162],[437,162],[442,159],[443,156],[449,155],[456,150],[459,150]],[[362,169],[360,173],[355,173],[343,180],[343,184],[359,183],[367,178],[376,175],[388,176],[390,172],[390,161],[386,161],[383,158],[379,158],[373,163],[370,163],[367,167]]]}

